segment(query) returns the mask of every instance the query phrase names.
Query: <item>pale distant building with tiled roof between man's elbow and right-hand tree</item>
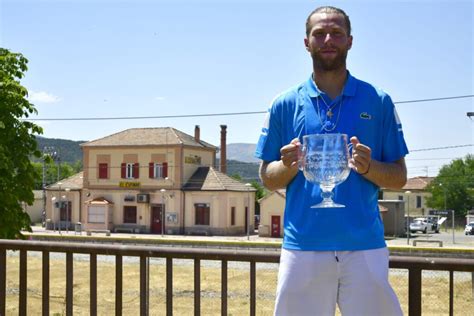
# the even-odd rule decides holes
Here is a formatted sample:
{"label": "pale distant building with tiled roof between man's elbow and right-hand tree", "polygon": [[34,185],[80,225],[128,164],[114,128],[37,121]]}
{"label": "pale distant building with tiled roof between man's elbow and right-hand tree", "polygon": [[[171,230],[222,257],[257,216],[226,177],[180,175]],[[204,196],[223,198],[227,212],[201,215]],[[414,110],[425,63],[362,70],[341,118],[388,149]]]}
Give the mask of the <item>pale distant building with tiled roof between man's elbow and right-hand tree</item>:
{"label": "pale distant building with tiled roof between man's elbow and right-hand tree", "polygon": [[400,190],[384,188],[379,192],[379,200],[405,201],[405,209],[409,211],[410,217],[428,215],[426,199],[431,196],[431,193],[426,191],[426,187],[433,179],[433,177],[414,177],[408,179]]}

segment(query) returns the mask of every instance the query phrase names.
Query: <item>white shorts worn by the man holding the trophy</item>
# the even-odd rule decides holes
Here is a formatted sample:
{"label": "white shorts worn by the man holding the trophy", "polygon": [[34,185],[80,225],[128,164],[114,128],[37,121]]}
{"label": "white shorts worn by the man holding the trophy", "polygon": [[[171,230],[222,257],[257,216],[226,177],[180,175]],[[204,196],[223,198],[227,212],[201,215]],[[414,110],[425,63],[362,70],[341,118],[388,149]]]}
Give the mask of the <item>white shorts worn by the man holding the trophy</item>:
{"label": "white shorts worn by the man holding the trophy", "polygon": [[282,249],[275,315],[403,315],[388,283],[388,249]]}

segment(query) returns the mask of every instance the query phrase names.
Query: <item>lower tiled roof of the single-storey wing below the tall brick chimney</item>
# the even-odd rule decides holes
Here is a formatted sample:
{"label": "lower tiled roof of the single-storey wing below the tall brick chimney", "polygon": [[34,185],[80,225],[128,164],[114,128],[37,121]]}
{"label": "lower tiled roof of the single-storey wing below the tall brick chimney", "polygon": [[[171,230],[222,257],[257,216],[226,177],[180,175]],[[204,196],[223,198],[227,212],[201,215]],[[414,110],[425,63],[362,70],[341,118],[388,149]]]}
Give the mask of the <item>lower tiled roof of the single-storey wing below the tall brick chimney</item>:
{"label": "lower tiled roof of the single-storey wing below the tall brick chimney", "polygon": [[241,191],[255,192],[254,187],[247,187],[228,175],[212,167],[199,167],[183,186],[183,191]]}

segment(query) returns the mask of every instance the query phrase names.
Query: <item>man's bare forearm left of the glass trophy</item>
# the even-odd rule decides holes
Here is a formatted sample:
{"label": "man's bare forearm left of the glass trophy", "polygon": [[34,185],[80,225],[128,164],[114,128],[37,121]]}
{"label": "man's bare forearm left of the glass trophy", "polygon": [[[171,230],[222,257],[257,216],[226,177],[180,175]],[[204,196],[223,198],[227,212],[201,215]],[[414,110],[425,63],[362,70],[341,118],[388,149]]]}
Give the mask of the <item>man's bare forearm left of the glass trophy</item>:
{"label": "man's bare forearm left of the glass trophy", "polygon": [[264,161],[260,164],[260,179],[262,179],[263,185],[271,191],[286,188],[297,173],[298,165],[287,167],[281,160]]}

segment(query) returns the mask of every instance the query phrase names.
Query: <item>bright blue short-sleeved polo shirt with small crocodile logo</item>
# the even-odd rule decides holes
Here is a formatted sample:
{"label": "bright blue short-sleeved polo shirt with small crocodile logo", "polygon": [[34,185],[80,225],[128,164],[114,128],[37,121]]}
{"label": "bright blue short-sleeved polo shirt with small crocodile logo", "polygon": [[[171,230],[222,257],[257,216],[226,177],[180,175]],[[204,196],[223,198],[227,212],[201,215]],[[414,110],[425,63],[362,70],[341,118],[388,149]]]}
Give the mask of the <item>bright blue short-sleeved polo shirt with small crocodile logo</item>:
{"label": "bright blue short-sleeved polo shirt with small crocodile logo", "polygon": [[[328,108],[333,113],[330,117]],[[280,148],[294,138],[302,141],[304,135],[322,133],[357,136],[372,149],[372,159],[382,162],[394,162],[408,153],[390,97],[348,72],[344,90],[334,100],[319,91],[311,77],[280,94],[268,110],[255,156],[267,162],[280,160]],[[344,251],[385,247],[378,190],[351,170],[347,180],[333,190],[333,200],[346,207],[312,209],[311,205],[322,200],[319,185],[306,181],[299,171],[286,188],[283,248]]]}

